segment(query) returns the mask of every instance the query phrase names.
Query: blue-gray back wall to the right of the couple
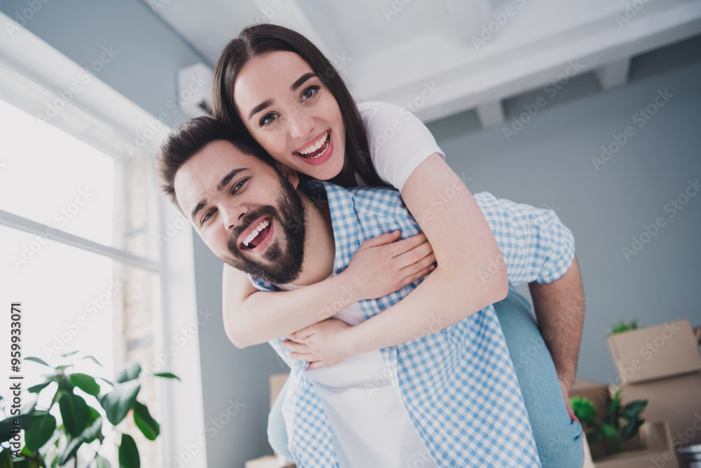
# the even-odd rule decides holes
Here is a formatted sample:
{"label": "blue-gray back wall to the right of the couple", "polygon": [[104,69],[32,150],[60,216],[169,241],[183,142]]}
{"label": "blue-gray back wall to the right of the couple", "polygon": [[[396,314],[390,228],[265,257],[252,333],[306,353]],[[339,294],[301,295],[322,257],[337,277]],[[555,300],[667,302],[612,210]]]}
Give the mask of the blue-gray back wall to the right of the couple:
{"label": "blue-gray back wall to the right of the couple", "polygon": [[[700,83],[697,36],[634,59],[622,88],[601,91],[585,74],[552,98],[539,88],[508,100],[508,126],[524,105],[547,103],[509,141],[502,126],[479,128],[474,112],[429,125],[454,171],[472,178],[472,192],[554,206],[574,233],[587,298],[579,377],[615,382],[606,330],[620,319],[701,324],[701,194],[674,216],[665,212],[688,180],[701,182]],[[665,89],[672,97],[639,127],[635,114]],[[597,171],[592,156],[627,126],[635,133]],[[663,227],[625,258],[622,248],[658,217]]]}

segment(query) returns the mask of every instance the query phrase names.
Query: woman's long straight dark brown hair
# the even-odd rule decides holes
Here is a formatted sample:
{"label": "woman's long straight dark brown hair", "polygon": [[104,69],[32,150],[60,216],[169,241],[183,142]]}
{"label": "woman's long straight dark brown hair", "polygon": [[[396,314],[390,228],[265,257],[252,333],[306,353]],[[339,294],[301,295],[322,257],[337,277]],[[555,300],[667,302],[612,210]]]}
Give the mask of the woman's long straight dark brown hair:
{"label": "woman's long straight dark brown hair", "polygon": [[341,109],[343,126],[346,128],[346,163],[350,162],[368,185],[386,185],[372,166],[365,125],[346,83],[324,54],[306,37],[292,29],[271,24],[253,25],[243,29],[237,39],[226,44],[212,79],[215,117],[239,131],[249,133],[233,100],[234,82],[240,69],[250,59],[270,51],[294,52],[309,64],[334,95]]}

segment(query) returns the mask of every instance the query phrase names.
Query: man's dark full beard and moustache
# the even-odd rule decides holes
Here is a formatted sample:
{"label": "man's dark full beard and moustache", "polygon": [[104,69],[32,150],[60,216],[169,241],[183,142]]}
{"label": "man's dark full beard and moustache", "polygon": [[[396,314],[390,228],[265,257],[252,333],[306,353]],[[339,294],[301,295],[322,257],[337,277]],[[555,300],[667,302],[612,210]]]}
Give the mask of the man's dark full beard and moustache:
{"label": "man's dark full beard and moustache", "polygon": [[[281,183],[278,193],[279,209],[267,205],[245,215],[239,227],[233,229],[229,236],[229,252],[232,256],[226,256],[222,260],[236,269],[269,283],[285,284],[292,283],[301,273],[304,260],[305,213],[297,191],[287,179],[281,175],[279,177]],[[263,255],[255,257],[252,254],[247,255],[245,250],[239,248],[237,239],[252,222],[266,215],[270,215],[275,221],[275,229],[282,228],[285,234],[284,246],[280,246],[280,242],[270,243]]]}

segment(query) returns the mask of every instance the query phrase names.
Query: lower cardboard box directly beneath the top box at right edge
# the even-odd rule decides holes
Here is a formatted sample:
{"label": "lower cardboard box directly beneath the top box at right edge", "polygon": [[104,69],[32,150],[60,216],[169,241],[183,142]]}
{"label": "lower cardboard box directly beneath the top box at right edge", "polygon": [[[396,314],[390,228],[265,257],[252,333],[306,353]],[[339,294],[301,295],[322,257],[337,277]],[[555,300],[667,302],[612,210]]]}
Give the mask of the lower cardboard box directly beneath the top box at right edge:
{"label": "lower cardboard box directly beneath the top box at right edge", "polygon": [[[701,443],[701,374],[690,373],[642,384],[623,385],[621,400],[647,400],[646,421],[667,421],[672,442],[679,447]],[[611,387],[611,394],[618,387]]]}

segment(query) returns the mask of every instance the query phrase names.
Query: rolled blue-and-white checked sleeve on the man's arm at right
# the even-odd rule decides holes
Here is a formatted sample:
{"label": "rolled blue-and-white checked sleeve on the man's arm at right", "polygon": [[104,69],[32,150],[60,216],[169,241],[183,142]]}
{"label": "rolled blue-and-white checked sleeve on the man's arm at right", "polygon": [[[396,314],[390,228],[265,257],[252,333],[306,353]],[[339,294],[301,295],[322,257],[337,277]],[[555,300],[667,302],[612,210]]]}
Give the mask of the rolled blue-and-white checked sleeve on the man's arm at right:
{"label": "rolled blue-and-white checked sleeve on the man's arm at right", "polygon": [[574,236],[553,210],[496,199],[488,192],[475,194],[475,201],[501,249],[509,283],[552,283],[567,272],[575,255]]}

